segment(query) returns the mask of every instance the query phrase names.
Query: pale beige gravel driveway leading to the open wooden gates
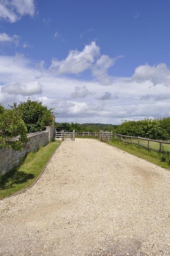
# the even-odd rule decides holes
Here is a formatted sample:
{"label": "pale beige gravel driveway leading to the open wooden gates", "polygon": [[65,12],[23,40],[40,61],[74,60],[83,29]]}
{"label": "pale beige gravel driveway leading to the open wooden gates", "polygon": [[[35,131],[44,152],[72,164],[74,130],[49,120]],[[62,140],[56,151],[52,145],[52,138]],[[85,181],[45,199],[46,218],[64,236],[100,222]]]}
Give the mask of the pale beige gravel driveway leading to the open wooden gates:
{"label": "pale beige gravel driveway leading to the open wooden gates", "polygon": [[0,201],[0,255],[170,255],[169,205],[169,170],[65,141],[31,189]]}

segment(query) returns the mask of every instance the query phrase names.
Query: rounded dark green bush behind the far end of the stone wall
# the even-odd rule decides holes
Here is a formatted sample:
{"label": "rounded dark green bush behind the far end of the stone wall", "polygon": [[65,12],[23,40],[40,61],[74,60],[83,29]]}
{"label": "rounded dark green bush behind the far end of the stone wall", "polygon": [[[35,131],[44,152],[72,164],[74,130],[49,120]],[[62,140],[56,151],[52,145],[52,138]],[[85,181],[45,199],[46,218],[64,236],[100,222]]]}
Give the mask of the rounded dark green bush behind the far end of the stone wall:
{"label": "rounded dark green bush behind the far end of the stone wall", "polygon": [[28,133],[43,131],[47,125],[51,125],[53,122],[53,109],[47,109],[47,106],[42,105],[42,102],[31,101],[28,98],[26,102],[20,102],[18,106],[14,103],[11,108],[20,113]]}

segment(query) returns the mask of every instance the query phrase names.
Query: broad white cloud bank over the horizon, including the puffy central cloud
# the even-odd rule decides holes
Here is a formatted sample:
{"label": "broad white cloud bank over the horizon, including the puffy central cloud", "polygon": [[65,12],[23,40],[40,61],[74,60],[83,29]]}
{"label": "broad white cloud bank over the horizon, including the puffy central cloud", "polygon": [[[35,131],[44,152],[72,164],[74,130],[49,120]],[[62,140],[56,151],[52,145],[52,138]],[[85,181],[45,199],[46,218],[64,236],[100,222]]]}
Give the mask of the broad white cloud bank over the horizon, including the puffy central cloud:
{"label": "broad white cloud bank over the horizon, including the puffy central cloud", "polygon": [[[55,108],[59,113],[56,119],[58,122],[118,124],[121,119],[170,116],[170,87],[167,87],[169,70],[165,64],[160,64],[162,71],[157,69],[159,66],[150,67],[147,64],[152,70],[149,76],[140,68],[143,66],[139,66],[133,77],[115,77],[114,80],[109,77],[111,83],[107,84],[107,91],[101,77],[87,81],[64,75],[70,73],[70,68],[74,74],[76,67],[79,72],[88,67],[99,73],[104,70],[107,77],[107,70],[116,58],[100,55],[99,50],[95,43],[85,46],[81,52],[75,50],[65,60],[59,61],[55,72],[53,68],[45,68],[44,61],[37,63],[21,54],[1,55],[0,102],[8,107],[8,104],[25,101],[31,95],[32,100],[40,100],[49,108]],[[63,76],[57,76],[56,73]],[[162,73],[164,75],[160,76]],[[153,84],[156,86],[153,87]]]}

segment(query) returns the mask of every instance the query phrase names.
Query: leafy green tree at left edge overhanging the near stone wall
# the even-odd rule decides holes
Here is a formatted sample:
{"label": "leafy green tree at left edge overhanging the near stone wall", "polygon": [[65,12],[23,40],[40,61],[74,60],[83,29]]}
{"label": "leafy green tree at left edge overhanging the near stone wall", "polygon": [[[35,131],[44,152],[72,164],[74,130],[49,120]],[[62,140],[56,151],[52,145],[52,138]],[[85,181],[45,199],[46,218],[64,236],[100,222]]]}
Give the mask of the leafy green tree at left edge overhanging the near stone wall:
{"label": "leafy green tree at left edge overhanging the near stone wall", "polygon": [[27,127],[19,112],[0,105],[0,148],[22,150],[27,141]]}

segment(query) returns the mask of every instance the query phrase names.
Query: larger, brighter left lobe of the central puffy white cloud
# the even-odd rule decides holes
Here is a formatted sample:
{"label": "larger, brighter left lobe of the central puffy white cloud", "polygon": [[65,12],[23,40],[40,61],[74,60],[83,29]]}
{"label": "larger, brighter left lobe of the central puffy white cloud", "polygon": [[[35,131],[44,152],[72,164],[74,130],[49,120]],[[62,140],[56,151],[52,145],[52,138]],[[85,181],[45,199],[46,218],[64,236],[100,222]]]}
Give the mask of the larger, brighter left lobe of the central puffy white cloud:
{"label": "larger, brighter left lobe of the central puffy white cloud", "polygon": [[95,56],[98,56],[100,48],[96,45],[96,42],[91,42],[90,45],[86,45],[83,51],[71,50],[64,60],[53,59],[50,69],[54,70],[56,74],[72,73],[78,74],[84,70],[91,68],[94,63]]}

